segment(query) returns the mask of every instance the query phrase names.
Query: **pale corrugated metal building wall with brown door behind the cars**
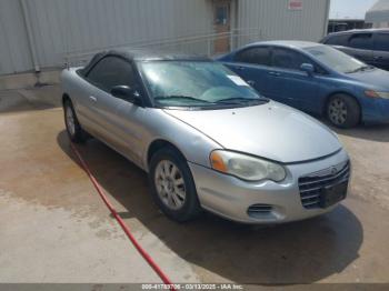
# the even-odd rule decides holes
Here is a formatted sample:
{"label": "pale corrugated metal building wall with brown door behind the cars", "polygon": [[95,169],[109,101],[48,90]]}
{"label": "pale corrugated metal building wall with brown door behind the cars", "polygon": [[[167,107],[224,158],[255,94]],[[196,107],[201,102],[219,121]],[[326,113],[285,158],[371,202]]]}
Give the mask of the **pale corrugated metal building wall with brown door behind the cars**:
{"label": "pale corrugated metal building wall with brown door behind the cars", "polygon": [[[111,47],[217,54],[256,40],[318,41],[330,0],[1,0],[0,76]],[[215,36],[217,33],[217,36]]]}

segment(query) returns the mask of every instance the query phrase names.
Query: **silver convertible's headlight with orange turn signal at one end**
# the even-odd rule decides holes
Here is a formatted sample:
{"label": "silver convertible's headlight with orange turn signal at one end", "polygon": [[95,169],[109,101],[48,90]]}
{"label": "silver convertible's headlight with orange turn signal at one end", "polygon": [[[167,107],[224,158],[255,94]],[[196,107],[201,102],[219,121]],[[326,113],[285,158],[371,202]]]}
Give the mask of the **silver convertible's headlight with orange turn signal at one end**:
{"label": "silver convertible's headlight with orange turn signal at one end", "polygon": [[212,151],[210,161],[213,170],[248,181],[272,180],[280,182],[287,175],[280,164],[231,151]]}

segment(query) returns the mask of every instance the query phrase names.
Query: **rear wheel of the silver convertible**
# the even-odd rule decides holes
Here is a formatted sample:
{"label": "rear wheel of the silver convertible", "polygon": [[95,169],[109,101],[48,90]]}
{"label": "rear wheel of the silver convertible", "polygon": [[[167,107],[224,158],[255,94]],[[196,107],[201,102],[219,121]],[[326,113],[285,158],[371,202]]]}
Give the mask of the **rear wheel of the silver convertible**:
{"label": "rear wheel of the silver convertible", "polygon": [[69,139],[74,143],[83,143],[87,140],[87,133],[82,130],[70,100],[63,102],[64,124]]}

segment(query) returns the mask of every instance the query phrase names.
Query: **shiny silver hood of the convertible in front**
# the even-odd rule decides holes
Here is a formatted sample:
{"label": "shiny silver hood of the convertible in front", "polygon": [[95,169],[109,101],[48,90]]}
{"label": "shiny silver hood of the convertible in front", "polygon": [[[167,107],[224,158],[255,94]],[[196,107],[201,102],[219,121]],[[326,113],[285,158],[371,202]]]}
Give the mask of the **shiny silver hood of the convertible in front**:
{"label": "shiny silver hood of the convertible in front", "polygon": [[341,149],[332,131],[311,117],[277,102],[222,110],[164,110],[222,148],[291,163]]}

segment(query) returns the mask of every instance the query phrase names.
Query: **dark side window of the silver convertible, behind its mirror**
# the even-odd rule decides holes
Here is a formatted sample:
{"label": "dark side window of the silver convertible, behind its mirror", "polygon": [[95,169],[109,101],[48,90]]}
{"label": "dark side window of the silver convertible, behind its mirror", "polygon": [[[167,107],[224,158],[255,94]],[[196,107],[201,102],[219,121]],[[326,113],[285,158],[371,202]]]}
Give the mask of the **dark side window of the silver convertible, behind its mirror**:
{"label": "dark side window of the silver convertible, behind its mirror", "polygon": [[87,79],[106,91],[110,91],[114,86],[134,86],[131,64],[117,57],[103,58],[89,72]]}

